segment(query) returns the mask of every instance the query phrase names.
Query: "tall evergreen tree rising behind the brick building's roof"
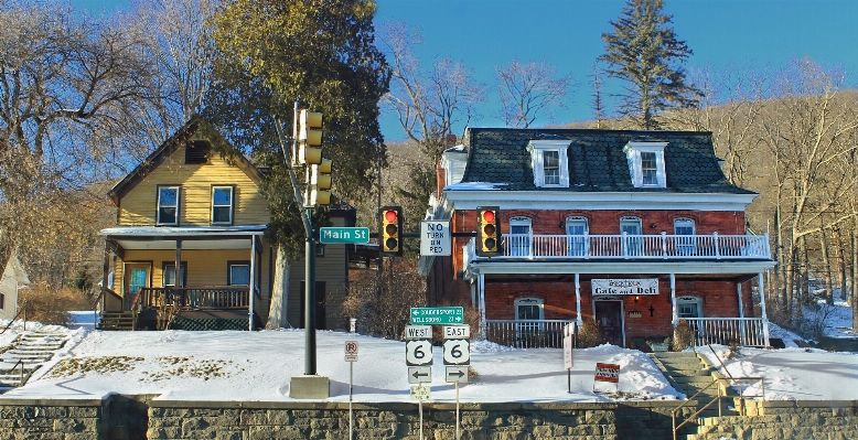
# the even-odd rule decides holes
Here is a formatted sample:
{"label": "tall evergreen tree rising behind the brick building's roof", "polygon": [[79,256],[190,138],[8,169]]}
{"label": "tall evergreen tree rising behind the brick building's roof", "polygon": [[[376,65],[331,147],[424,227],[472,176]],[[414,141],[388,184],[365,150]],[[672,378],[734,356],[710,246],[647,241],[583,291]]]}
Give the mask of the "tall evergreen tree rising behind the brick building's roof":
{"label": "tall evergreen tree rising behind the brick building's roof", "polygon": [[686,84],[678,65],[693,54],[669,26],[673,15],[662,12],[662,0],[626,0],[622,15],[603,33],[605,53],[599,61],[605,73],[625,79],[628,95],[620,114],[643,129],[657,129],[658,115],[671,107],[696,107],[700,92]]}

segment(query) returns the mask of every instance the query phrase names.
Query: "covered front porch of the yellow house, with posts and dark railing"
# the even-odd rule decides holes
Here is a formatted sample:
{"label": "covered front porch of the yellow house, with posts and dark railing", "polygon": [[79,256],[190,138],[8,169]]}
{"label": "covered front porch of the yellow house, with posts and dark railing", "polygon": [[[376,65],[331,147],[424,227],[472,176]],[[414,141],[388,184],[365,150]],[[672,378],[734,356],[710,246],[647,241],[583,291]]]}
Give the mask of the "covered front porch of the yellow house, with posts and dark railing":
{"label": "covered front porch of the yellow house, with posts and dark railing", "polygon": [[270,251],[261,242],[265,229],[254,225],[101,230],[105,279],[112,279],[103,287],[103,314],[132,319],[128,330],[163,330],[175,320],[200,314],[191,312],[205,312],[195,319],[232,321],[226,328],[235,328],[243,315],[244,329],[258,328],[264,319],[259,311],[267,310],[260,286],[270,275],[266,264]]}

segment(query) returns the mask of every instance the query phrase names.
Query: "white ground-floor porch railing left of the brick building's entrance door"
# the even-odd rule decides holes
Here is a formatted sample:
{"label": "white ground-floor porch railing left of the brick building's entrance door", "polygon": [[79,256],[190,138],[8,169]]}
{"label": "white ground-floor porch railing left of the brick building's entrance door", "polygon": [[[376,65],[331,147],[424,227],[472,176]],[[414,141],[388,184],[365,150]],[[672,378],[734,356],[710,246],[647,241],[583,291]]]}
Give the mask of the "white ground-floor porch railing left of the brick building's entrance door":
{"label": "white ground-floor porch railing left of the brick building's entrance door", "polygon": [[519,348],[562,348],[564,326],[573,320],[486,320],[485,339]]}

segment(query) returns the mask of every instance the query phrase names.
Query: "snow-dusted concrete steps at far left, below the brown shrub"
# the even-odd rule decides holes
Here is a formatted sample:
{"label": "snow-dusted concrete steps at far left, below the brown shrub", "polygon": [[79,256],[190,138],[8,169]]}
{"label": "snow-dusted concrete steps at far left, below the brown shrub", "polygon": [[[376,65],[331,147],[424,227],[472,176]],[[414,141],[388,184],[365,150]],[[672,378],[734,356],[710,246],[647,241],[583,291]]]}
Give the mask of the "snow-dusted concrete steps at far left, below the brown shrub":
{"label": "snow-dusted concrete steps at far left, below the brown shrub", "polygon": [[0,394],[26,384],[68,340],[64,332],[33,331],[21,334],[12,347],[0,354]]}

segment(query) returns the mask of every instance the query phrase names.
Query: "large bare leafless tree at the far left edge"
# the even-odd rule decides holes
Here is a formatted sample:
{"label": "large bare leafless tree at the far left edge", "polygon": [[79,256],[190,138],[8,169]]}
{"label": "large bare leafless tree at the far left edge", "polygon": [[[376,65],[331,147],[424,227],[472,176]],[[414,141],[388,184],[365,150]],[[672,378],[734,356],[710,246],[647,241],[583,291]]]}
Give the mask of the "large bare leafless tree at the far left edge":
{"label": "large bare leafless tree at the far left edge", "polygon": [[[110,133],[149,105],[152,69],[121,26],[55,3],[0,2],[0,267],[51,191],[112,176],[135,151]],[[35,219],[37,222],[37,219]]]}

